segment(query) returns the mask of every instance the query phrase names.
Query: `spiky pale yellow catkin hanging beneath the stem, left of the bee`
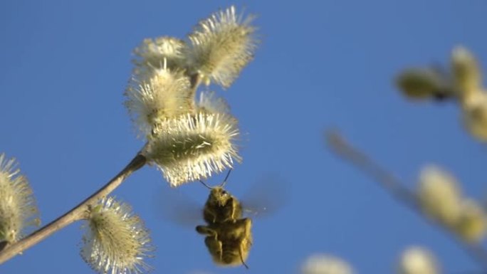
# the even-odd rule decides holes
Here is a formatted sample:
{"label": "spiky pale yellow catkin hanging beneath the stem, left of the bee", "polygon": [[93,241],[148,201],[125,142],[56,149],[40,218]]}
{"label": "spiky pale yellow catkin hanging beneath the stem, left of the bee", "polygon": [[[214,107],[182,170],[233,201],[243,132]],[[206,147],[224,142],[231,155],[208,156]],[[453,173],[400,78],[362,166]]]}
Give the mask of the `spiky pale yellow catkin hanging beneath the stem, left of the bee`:
{"label": "spiky pale yellow catkin hanging beneath the stem, left of the bee", "polygon": [[90,209],[81,257],[98,273],[132,274],[150,270],[144,259],[154,247],[142,220],[112,197]]}

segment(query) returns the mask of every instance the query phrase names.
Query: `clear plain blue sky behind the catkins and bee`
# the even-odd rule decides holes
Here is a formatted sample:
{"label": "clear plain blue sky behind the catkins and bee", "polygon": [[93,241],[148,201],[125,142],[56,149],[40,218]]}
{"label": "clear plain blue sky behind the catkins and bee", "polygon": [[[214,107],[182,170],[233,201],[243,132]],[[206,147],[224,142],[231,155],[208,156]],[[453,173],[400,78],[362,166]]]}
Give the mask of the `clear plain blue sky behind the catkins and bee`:
{"label": "clear plain blue sky behind the catkins and bee", "polygon": [[[392,85],[404,67],[446,64],[459,44],[487,67],[481,0],[1,1],[0,152],[19,159],[43,223],[105,184],[142,147],[122,105],[132,49],[147,37],[184,37],[231,4],[258,15],[262,43],[229,90],[215,88],[245,133],[244,162],[228,189],[241,196],[273,172],[288,181],[290,199],[254,221],[250,270],[216,268],[194,228],[155,214],[155,193],[176,190],[144,167],[115,195],[152,231],[155,273],[297,273],[317,252],[360,273],[392,273],[412,244],[434,251],[447,273],[477,269],[451,238],[334,157],[322,134],[340,128],[411,187],[424,164],[440,164],[467,195],[483,199],[487,149],[464,132],[456,105],[415,104]],[[177,191],[201,204],[207,194],[199,184]],[[0,273],[92,273],[78,254],[80,238],[75,223]]]}

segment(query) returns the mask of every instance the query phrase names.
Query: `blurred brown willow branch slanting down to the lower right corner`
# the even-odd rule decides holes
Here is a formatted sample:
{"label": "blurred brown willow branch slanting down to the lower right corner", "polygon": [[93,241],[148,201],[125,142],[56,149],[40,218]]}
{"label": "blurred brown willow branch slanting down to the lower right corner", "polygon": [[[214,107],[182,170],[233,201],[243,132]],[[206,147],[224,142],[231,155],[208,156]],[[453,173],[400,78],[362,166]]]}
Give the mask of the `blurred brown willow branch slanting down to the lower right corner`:
{"label": "blurred brown willow branch slanting down to the lower right corner", "polygon": [[411,191],[404,187],[402,181],[397,179],[394,175],[387,172],[385,169],[376,164],[372,159],[367,157],[367,155],[361,152],[359,149],[352,147],[348,144],[345,139],[343,139],[337,132],[326,132],[325,133],[326,142],[332,152],[335,152],[338,157],[345,159],[350,164],[353,164],[357,169],[362,170],[365,174],[372,177],[379,186],[388,191],[394,199],[404,204],[405,206],[412,209],[412,211],[419,214],[419,216],[424,217],[424,220],[433,224],[440,231],[447,233],[451,238],[454,238],[456,243],[461,246],[461,248],[468,253],[468,255],[473,258],[477,263],[479,263],[483,269],[487,270],[487,251],[482,246],[478,244],[466,243],[461,241],[461,239],[456,236],[454,231],[450,228],[441,225],[438,221],[429,218],[421,210],[417,195],[414,191]]}

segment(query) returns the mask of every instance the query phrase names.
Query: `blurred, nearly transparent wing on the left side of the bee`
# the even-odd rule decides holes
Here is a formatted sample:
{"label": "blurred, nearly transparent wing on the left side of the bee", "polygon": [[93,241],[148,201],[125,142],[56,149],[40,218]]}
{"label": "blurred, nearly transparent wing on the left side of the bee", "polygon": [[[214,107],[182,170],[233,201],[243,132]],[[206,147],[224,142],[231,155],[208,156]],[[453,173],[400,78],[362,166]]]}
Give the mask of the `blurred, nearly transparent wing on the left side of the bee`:
{"label": "blurred, nearly transparent wing on the left side of the bee", "polygon": [[197,226],[203,221],[203,206],[179,189],[160,188],[154,197],[154,209],[158,218],[181,226]]}

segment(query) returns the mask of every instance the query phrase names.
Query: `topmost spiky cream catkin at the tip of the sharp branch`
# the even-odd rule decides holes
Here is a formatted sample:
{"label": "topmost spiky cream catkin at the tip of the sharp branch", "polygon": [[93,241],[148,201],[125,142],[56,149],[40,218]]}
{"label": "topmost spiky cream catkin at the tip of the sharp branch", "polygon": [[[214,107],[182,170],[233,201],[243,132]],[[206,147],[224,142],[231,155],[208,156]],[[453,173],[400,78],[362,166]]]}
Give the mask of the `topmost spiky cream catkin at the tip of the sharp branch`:
{"label": "topmost spiky cream catkin at the tip of the sharp branch", "polygon": [[256,49],[255,28],[252,18],[241,19],[235,7],[219,11],[209,19],[199,22],[189,35],[189,65],[197,71],[206,84],[213,80],[224,88],[240,74],[253,59]]}

